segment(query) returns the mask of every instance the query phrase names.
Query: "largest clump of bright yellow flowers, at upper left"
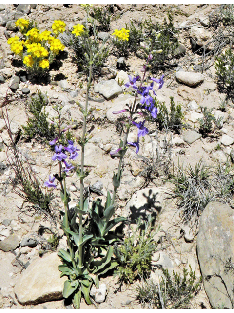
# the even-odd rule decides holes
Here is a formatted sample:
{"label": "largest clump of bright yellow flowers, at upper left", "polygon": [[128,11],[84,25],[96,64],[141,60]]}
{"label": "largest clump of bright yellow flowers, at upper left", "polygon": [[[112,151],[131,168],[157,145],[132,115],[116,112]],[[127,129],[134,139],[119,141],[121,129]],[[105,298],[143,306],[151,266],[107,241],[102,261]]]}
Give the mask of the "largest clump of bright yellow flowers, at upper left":
{"label": "largest clump of bright yellow flowers, at upper left", "polygon": [[[66,24],[62,21],[54,21],[53,34],[48,30],[40,32],[36,27],[30,29],[32,23],[24,19],[16,21],[16,26],[19,27],[25,41],[20,41],[20,38],[15,36],[9,38],[7,43],[11,50],[20,56],[31,73],[39,74],[48,69],[59,51],[65,48],[57,38],[59,33],[65,31]],[[23,55],[23,52],[27,55],[25,53]]]}

